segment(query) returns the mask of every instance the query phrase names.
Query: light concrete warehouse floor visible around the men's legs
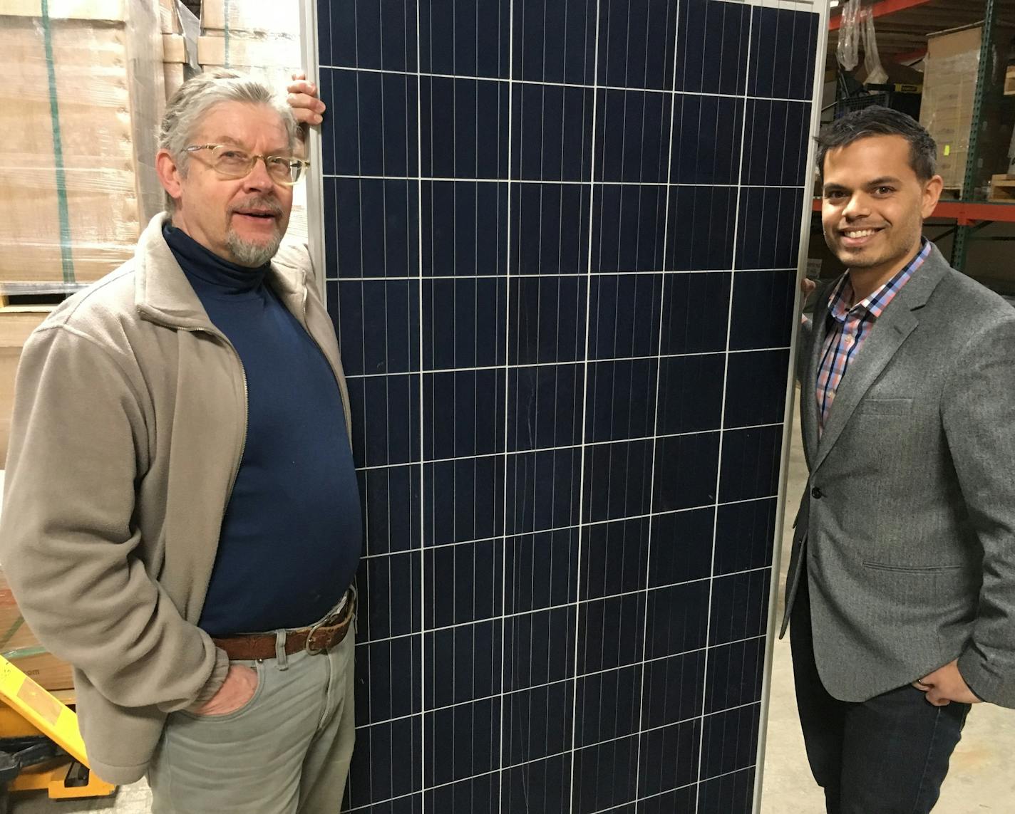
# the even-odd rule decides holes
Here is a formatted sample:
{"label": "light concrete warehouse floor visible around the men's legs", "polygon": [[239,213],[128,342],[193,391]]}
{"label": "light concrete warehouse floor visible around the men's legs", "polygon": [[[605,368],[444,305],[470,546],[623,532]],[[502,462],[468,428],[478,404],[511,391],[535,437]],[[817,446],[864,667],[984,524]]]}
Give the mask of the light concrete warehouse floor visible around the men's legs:
{"label": "light concrete warehouse floor visible around the men's legs", "polygon": [[[799,420],[794,423],[787,495],[792,510],[787,511],[781,584],[786,584],[790,559],[790,523],[807,480]],[[780,591],[779,618],[783,602]],[[969,715],[962,741],[952,757],[951,770],[935,808],[940,814],[984,814],[1015,812],[1015,712],[990,705],[976,707]],[[50,801],[43,793],[14,797],[12,814],[76,814],[85,811],[148,814],[151,793],[144,781],[119,790],[115,798],[89,801]],[[764,761],[762,814],[821,814],[823,796],[807,767],[804,741],[797,722],[793,692],[790,641],[775,643],[772,662],[771,707],[768,717],[767,748]],[[436,812],[435,814],[441,814]],[[484,812],[475,812],[484,814]],[[515,814],[515,812],[505,812]],[[674,812],[684,814],[684,812]]]}

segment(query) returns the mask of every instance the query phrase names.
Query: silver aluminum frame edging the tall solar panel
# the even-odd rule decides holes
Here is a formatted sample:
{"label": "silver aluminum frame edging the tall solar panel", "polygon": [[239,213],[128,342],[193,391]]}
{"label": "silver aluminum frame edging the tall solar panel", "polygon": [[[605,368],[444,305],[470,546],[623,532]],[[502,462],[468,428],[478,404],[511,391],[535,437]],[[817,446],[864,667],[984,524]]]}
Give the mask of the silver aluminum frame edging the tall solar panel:
{"label": "silver aluminum frame edging the tall solar panel", "polygon": [[[728,0],[731,5],[743,5],[743,6],[754,6],[754,7],[766,7],[775,9],[786,9],[795,11],[810,11],[818,15],[818,42],[815,46],[815,71],[814,71],[814,82],[812,96],[810,99],[811,103],[811,117],[810,117],[810,133],[813,136],[817,133],[820,126],[820,116],[821,116],[821,98],[823,94],[824,86],[824,56],[826,53],[826,43],[828,36],[828,5],[827,2],[822,0],[755,0],[754,2],[747,2],[746,0]],[[308,78],[313,81],[317,86],[321,87],[321,77],[319,72],[319,43],[318,43],[318,20],[317,20],[317,3],[314,0],[300,0],[300,22],[301,22],[301,33],[302,33],[302,47],[303,47],[303,58],[304,65],[307,69]],[[334,115],[334,110],[329,110],[326,116]],[[324,183],[323,183],[323,168],[322,168],[322,155],[323,155],[323,144],[322,144],[322,134],[320,127],[312,127],[309,129],[308,136],[308,150],[309,157],[311,159],[311,170],[307,177],[307,202],[308,202],[308,223],[309,223],[309,233],[310,233],[310,252],[314,268],[317,270],[316,282],[321,292],[322,298],[325,297],[325,277],[323,270],[326,268],[326,257],[325,257],[325,239],[324,239],[324,224],[325,224],[325,205],[324,205]],[[815,156],[815,144],[813,139],[808,140],[807,149],[807,161],[806,167],[811,168],[814,164]],[[419,169],[420,174],[422,174],[421,168]],[[807,249],[810,238],[810,222],[812,217],[811,208],[811,195],[810,195],[810,175],[808,174],[805,180],[805,195],[804,195],[804,206],[802,207],[800,213],[800,239],[799,239],[799,253],[798,253],[798,264],[797,264],[797,283],[805,277],[806,275],[806,265],[807,265]],[[738,187],[739,187],[738,182]],[[421,261],[420,261],[421,263]],[[794,313],[799,313],[800,309],[800,290],[799,285],[795,289],[795,303],[794,303]],[[776,501],[777,509],[774,521],[775,534],[771,540],[772,546],[772,560],[771,560],[771,572],[770,580],[768,585],[768,612],[767,618],[764,622],[764,630],[766,635],[764,653],[763,653],[763,672],[762,672],[762,688],[760,697],[760,724],[759,724],[759,736],[757,744],[757,756],[756,756],[756,767],[754,774],[754,791],[753,791],[753,805],[752,810],[757,814],[760,811],[761,804],[761,791],[762,791],[762,781],[763,781],[763,765],[765,756],[765,729],[768,718],[768,708],[769,708],[769,696],[770,696],[770,682],[771,682],[771,661],[772,661],[772,650],[774,643],[774,631],[776,623],[776,607],[777,607],[777,592],[779,592],[779,575],[780,575],[780,559],[781,559],[781,548],[782,548],[782,529],[785,520],[786,505],[785,501],[787,498],[786,488],[787,488],[787,477],[789,468],[789,449],[792,443],[790,428],[792,428],[793,415],[795,410],[795,376],[792,365],[792,360],[796,358],[797,345],[798,345],[798,334],[799,334],[799,323],[795,320],[792,327],[791,343],[790,343],[790,359],[791,366],[789,374],[787,376],[786,383],[786,400],[785,400],[785,413],[784,413],[784,427],[786,431],[783,433],[782,450],[781,450],[781,461],[780,461],[780,474],[779,474],[779,497]],[[584,523],[580,519],[580,524]],[[572,749],[576,748],[572,744]],[[700,781],[699,776],[699,781]],[[425,804],[424,804],[425,806]],[[426,810],[424,808],[424,810]],[[426,814],[429,811],[426,810]]]}

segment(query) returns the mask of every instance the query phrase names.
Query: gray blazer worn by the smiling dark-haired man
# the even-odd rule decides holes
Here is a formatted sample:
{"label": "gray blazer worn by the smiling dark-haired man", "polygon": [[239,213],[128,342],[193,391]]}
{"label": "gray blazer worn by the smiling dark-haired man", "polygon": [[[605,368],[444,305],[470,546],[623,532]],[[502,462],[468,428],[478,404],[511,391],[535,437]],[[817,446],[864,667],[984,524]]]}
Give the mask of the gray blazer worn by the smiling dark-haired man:
{"label": "gray blazer worn by the smiling dark-haired man", "polygon": [[[935,247],[874,323],[818,439],[825,289],[800,357],[807,569],[827,690],[862,701],[958,659],[1015,708],[1015,308]],[[810,336],[807,336],[810,335]]]}

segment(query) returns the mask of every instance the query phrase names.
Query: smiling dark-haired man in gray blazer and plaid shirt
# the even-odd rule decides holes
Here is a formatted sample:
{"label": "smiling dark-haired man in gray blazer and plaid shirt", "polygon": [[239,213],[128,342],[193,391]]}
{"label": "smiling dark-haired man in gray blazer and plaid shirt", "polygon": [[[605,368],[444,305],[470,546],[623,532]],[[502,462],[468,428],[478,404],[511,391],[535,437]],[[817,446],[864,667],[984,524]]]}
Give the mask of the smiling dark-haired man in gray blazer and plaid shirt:
{"label": "smiling dark-haired man in gray blazer and plaid shirt", "polygon": [[917,122],[868,107],[818,145],[848,271],[805,331],[783,631],[829,814],[926,814],[970,705],[1015,707],[1015,311],[922,236]]}

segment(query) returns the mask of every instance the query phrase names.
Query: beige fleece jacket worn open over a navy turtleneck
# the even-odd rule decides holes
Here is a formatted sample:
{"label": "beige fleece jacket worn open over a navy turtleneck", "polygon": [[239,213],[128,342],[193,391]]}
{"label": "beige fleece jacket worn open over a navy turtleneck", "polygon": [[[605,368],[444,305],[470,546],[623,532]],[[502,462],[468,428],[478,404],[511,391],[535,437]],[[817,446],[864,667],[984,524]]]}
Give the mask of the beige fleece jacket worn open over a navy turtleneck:
{"label": "beige fleece jacket worn open over a navy turtleneck", "polygon": [[[0,563],[40,641],[74,667],[92,769],[140,779],[165,716],[228,662],[196,626],[247,433],[243,365],[162,237],[57,308],[15,384]],[[348,394],[306,250],[269,282]]]}

